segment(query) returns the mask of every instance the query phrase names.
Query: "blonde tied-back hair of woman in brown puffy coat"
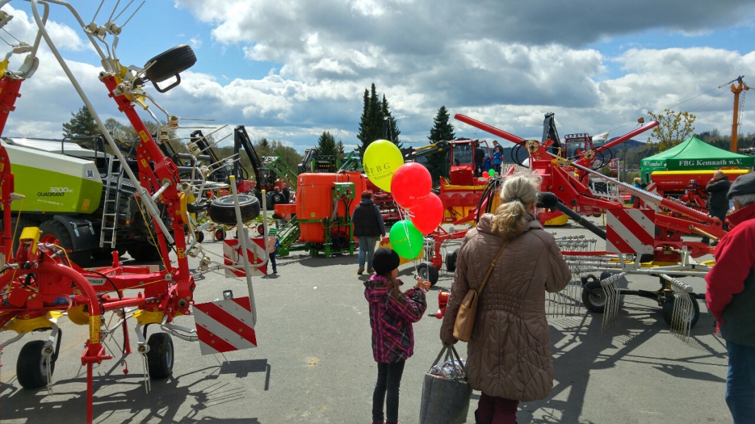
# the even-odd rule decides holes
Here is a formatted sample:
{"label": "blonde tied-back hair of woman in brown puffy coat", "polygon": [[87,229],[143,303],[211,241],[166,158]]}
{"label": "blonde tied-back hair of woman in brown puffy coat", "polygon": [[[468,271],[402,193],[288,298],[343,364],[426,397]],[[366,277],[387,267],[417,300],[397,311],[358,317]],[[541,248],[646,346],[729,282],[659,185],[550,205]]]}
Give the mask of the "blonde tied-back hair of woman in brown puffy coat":
{"label": "blonde tied-back hair of woman in brown puffy coat", "polygon": [[504,239],[513,239],[524,232],[529,215],[525,206],[538,200],[540,181],[540,177],[534,174],[514,175],[504,180],[501,206],[495,209],[492,219],[493,233]]}

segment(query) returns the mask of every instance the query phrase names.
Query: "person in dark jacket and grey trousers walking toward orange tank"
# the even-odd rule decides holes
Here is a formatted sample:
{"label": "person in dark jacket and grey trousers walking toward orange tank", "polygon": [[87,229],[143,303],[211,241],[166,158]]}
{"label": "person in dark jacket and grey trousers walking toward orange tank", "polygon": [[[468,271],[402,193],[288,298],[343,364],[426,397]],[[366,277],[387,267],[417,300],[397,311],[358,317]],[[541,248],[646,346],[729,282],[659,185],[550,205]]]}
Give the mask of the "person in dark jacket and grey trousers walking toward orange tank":
{"label": "person in dark jacket and grey trousers walking toward orange tank", "polygon": [[362,201],[354,209],[351,222],[354,224],[354,236],[359,239],[359,269],[356,273],[361,276],[365,272],[365,261],[367,272],[372,273],[372,252],[377,236],[385,236],[385,224],[380,209],[372,201],[371,190],[362,192]]}

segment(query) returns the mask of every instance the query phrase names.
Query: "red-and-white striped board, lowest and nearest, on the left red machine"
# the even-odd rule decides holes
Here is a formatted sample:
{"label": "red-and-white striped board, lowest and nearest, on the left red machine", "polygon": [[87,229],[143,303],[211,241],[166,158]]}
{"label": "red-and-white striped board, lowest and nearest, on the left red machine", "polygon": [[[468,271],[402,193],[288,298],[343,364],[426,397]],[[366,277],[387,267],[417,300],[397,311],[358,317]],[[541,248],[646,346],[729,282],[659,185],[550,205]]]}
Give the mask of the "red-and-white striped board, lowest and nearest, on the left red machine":
{"label": "red-and-white striped board, lowest and nearest, on the left red machine", "polygon": [[195,304],[193,315],[202,355],[257,347],[249,297]]}

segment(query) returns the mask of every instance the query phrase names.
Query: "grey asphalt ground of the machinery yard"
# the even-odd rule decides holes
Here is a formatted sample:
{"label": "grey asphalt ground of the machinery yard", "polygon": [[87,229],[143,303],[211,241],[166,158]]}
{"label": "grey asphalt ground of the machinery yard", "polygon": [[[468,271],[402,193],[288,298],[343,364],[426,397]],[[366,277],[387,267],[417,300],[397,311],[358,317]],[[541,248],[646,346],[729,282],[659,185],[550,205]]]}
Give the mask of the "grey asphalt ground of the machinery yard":
{"label": "grey asphalt ground of the machinery yard", "polygon": [[[571,223],[547,230],[591,236]],[[221,244],[209,239],[204,248],[220,253]],[[356,275],[356,255],[292,255],[278,261],[277,275],[254,278],[257,348],[202,356],[199,343],[174,337],[173,375],[153,381],[149,393],[140,355],[126,358],[128,374],[119,361],[103,361],[94,370],[94,422],[371,422],[377,367],[362,285],[368,277]],[[408,284],[413,270],[411,264],[401,267]],[[704,280],[685,281],[704,291]],[[625,284],[658,288],[657,279],[646,276],[630,276]],[[437,309],[439,289],[450,286],[451,275],[442,272],[428,294],[428,313]],[[225,289],[242,297],[245,280],[208,274],[198,279],[195,297],[214,300]],[[658,305],[642,297],[625,296],[616,325],[606,330],[601,315],[584,309],[550,316],[553,390],[541,401],[520,404],[518,422],[731,422],[723,400],[726,347],[712,334],[713,319],[700,306],[700,320],[686,341],[671,334]],[[177,323],[193,327],[193,318]],[[23,343],[46,333],[27,335],[2,351],[2,422],[85,422],[86,383],[79,365],[87,328],[67,319],[60,325],[63,345],[51,394],[21,389],[15,375]],[[401,385],[399,420],[405,424],[418,422],[423,375],[441,348],[439,327],[433,317],[414,325],[415,352]],[[0,343],[13,336],[0,333]],[[111,352],[119,351],[113,340],[108,343]],[[464,356],[465,344],[457,346]],[[473,392],[467,422],[474,422],[478,398]]]}

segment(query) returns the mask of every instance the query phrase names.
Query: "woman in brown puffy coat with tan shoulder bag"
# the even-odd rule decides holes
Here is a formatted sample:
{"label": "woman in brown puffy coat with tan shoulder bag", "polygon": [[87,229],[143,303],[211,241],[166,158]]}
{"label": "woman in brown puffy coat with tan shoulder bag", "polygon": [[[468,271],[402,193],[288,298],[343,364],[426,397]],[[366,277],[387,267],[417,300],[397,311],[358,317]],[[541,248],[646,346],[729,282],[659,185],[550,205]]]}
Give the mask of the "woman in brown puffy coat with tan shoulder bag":
{"label": "woman in brown puffy coat with tan shoulder bag", "polygon": [[540,186],[534,175],[507,178],[501,206],[485,214],[459,249],[451,297],[440,330],[443,343],[456,343],[454,320],[470,288],[479,288],[503,243],[508,242],[479,295],[467,374],[482,392],[476,422],[516,422],[519,401],[545,398],[553,387],[545,291],[559,291],[572,273],[553,235],[535,217]]}

